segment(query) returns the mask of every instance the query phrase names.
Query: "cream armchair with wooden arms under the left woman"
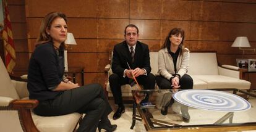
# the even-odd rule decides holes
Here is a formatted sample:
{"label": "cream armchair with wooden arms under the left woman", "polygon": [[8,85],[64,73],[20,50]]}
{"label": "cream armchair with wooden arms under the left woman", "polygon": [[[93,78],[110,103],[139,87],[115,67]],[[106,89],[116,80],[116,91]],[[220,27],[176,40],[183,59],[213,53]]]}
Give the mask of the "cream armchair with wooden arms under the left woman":
{"label": "cream armchair with wooden arms under the left woman", "polygon": [[56,117],[35,115],[32,109],[38,105],[38,101],[28,99],[25,80],[15,76],[10,78],[1,57],[0,78],[0,131],[75,131],[82,114]]}

